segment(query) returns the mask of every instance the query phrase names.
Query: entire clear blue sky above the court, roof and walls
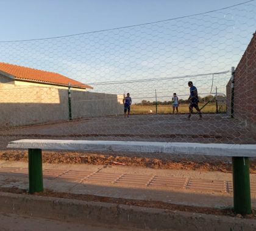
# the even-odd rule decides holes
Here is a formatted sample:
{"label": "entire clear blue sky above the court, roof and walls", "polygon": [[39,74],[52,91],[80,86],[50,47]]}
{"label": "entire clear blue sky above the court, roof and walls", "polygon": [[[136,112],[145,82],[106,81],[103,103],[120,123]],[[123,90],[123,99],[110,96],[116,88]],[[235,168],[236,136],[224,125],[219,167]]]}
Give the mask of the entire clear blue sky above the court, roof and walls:
{"label": "entire clear blue sky above the court, roof and walls", "polygon": [[[223,10],[241,0],[0,2],[0,61],[58,72],[94,92],[130,92],[137,102],[153,101],[155,90],[161,101],[173,92],[187,98],[191,80],[201,96],[216,87],[226,94],[226,71],[256,25],[256,1]],[[56,36],[66,37],[34,40]]]}

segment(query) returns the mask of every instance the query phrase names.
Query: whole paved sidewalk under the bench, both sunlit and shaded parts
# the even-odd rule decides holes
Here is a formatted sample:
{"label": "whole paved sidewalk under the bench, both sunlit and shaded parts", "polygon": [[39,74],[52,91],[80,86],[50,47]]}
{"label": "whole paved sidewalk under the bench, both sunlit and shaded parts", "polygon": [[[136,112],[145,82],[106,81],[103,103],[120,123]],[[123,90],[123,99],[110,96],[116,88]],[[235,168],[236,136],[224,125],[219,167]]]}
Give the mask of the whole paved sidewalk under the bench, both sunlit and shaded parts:
{"label": "whole paved sidewalk under the bench, both sunlit and shaded parts", "polygon": [[[44,188],[49,190],[149,199],[203,207],[232,206],[232,174],[138,167],[44,164]],[[24,162],[0,162],[0,187],[28,188]],[[256,207],[256,176],[251,175]]]}

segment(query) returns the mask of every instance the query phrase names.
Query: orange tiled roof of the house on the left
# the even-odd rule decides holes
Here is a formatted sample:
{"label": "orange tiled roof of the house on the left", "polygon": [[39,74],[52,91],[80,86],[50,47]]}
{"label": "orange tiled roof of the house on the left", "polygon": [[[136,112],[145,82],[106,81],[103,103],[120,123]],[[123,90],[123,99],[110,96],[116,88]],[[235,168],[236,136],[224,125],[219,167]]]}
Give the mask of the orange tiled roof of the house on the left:
{"label": "orange tiled roof of the house on the left", "polygon": [[0,63],[0,71],[12,75],[15,77],[15,80],[33,81],[35,83],[49,83],[60,86],[68,86],[68,83],[70,83],[71,86],[76,88],[93,89],[93,87],[87,84],[72,80],[71,78],[65,77],[64,75],[60,75],[58,73],[41,71],[9,63]]}

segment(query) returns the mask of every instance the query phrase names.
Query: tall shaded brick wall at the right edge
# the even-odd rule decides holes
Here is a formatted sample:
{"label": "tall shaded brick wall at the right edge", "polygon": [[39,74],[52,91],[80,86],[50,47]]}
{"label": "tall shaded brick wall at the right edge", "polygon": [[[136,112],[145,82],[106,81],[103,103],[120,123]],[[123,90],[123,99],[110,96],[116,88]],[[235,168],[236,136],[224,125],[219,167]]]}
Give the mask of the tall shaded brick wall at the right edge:
{"label": "tall shaded brick wall at the right edge", "polygon": [[[256,129],[256,33],[235,69],[234,117]],[[230,113],[231,84],[227,84]]]}

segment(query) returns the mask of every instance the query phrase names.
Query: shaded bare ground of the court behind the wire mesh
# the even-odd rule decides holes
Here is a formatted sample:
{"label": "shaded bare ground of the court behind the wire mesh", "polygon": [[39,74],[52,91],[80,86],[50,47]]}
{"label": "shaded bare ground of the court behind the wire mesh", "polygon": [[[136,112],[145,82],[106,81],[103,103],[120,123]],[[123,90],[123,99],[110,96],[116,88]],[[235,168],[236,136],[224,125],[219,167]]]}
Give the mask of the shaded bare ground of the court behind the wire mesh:
{"label": "shaded bare ground of the court behind the wire mesh", "polygon": [[256,134],[225,114],[157,114],[94,117],[44,125],[2,128],[0,149],[18,139],[124,140],[199,143],[256,143]]}

